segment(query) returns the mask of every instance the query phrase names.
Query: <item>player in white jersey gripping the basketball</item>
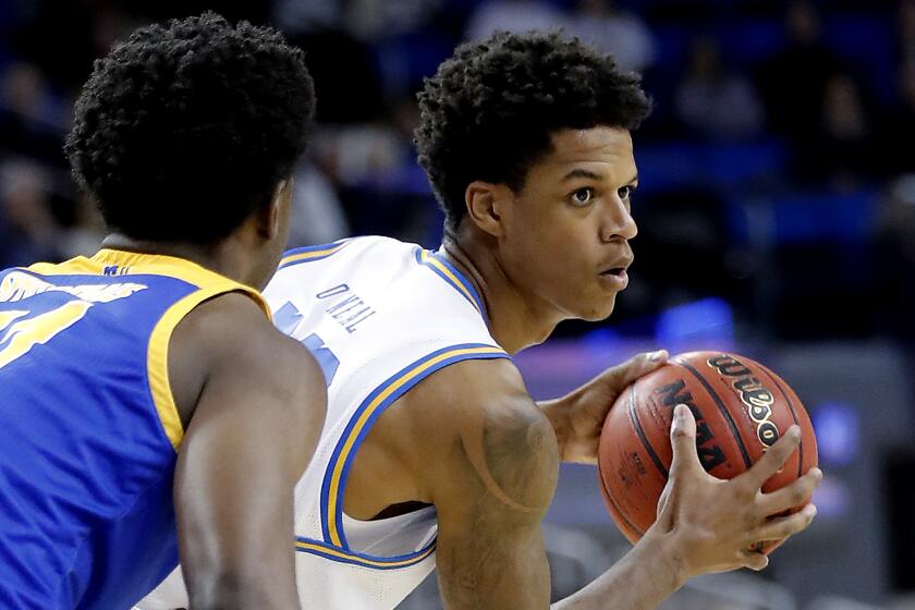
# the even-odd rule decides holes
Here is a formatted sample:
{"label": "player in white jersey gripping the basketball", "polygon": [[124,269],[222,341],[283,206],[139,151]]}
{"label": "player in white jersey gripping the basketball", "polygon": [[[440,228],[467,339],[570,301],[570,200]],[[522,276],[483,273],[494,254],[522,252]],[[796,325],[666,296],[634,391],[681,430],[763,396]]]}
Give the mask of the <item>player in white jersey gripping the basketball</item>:
{"label": "player in white jersey gripping the basketball", "polygon": [[[608,408],[666,354],[639,355],[537,404],[511,356],[569,318],[600,320],[626,286],[638,81],[556,35],[460,47],[419,96],[419,161],[447,215],[438,252],[357,237],[286,254],[265,292],[321,364],[328,417],[295,490],[303,608],[394,608],[438,568],[446,608],[545,609],[540,521],[560,461],[594,463]],[[708,476],[678,407],[658,521],[617,565],[553,608],[655,608],[687,578],[768,559],[804,529],[821,474],[760,486],[786,431],[747,474]],[[172,587],[170,590],[169,587]],[[180,606],[167,583],[144,608]]]}

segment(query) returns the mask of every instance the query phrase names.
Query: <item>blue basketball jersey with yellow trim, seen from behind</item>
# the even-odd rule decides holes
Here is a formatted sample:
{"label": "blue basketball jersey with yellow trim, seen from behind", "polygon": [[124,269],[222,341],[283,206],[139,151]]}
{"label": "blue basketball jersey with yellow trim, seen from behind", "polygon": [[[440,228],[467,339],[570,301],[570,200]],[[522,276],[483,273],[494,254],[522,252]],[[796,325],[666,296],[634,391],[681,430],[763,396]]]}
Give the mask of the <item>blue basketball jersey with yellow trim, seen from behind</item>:
{"label": "blue basketball jersey with yellow trim, seen from behind", "polygon": [[178,564],[169,339],[231,291],[269,316],[168,256],[0,271],[0,608],[130,608]]}

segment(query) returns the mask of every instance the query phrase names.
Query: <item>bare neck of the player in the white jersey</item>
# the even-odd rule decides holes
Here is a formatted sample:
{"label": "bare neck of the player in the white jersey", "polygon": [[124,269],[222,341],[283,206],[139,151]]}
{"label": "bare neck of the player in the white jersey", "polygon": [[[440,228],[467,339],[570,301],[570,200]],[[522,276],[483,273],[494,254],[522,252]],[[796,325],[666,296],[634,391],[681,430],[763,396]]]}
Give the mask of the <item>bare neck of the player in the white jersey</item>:
{"label": "bare neck of the player in the white jersey", "polygon": [[510,354],[542,343],[562,317],[508,277],[484,237],[467,228],[446,232],[442,253],[474,284],[486,307],[489,332]]}

